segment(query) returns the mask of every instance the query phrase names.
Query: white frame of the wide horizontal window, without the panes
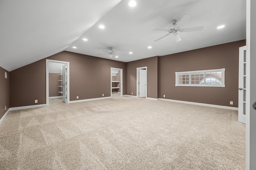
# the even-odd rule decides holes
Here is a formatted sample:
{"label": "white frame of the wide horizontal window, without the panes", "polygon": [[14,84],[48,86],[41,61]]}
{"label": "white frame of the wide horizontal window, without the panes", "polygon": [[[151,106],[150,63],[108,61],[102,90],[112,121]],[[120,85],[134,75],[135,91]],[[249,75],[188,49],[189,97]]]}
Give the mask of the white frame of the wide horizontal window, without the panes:
{"label": "white frame of the wide horizontal window, without the panes", "polygon": [[[204,81],[206,79],[206,73],[208,72],[222,72],[221,73],[221,85],[207,85],[207,84],[191,84],[192,73],[204,73]],[[179,74],[189,74],[189,84],[179,84]],[[225,87],[225,69],[212,69],[212,70],[198,70],[198,71],[183,71],[175,72],[175,86],[196,86],[196,87]]]}

